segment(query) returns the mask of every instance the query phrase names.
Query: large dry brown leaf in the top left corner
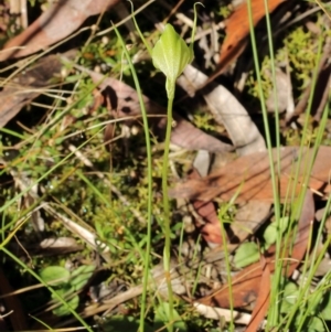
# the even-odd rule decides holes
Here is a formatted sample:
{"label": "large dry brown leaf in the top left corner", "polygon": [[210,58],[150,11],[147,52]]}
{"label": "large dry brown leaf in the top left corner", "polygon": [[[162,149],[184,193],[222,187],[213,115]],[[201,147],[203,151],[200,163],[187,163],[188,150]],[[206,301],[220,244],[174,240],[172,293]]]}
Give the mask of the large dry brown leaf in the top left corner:
{"label": "large dry brown leaf in the top left corner", "polygon": [[10,40],[0,53],[0,61],[30,55],[76,31],[90,15],[114,7],[119,0],[54,1],[28,29]]}

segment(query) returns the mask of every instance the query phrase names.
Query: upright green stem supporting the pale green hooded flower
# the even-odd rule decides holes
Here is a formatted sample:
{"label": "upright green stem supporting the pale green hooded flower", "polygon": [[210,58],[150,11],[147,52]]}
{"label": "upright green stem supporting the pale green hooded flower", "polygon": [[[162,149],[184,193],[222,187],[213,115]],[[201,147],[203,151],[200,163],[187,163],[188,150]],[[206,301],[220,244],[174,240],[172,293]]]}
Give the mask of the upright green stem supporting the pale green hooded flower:
{"label": "upright green stem supporting the pale green hooded flower", "polygon": [[164,214],[164,251],[163,251],[163,264],[164,274],[168,286],[169,296],[169,331],[173,330],[173,292],[171,287],[170,277],[170,253],[171,253],[171,229],[170,229],[170,206],[168,199],[168,164],[169,164],[169,149],[170,149],[170,137],[171,137],[171,126],[172,126],[172,105],[173,95],[169,96],[168,109],[167,109],[167,129],[166,129],[166,140],[164,140],[164,154],[163,154],[163,167],[162,167],[162,192],[163,192],[163,214]]}

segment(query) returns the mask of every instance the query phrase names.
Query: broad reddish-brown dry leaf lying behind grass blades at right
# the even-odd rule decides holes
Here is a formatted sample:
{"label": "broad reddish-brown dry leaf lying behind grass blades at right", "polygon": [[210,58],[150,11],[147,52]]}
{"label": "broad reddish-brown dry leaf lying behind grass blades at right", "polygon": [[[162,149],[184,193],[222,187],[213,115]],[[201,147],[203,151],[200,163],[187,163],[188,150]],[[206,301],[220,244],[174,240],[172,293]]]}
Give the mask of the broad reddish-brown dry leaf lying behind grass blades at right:
{"label": "broad reddish-brown dry leaf lying behind grass blades at right", "polygon": [[[302,190],[307,168],[313,158],[312,152],[308,148],[303,148],[301,152],[298,147],[280,148],[279,196],[281,201],[285,201],[288,196],[289,188],[295,196]],[[298,164],[300,153],[301,163]],[[276,167],[276,149],[273,150],[273,157]],[[299,179],[297,183],[293,183],[297,169],[299,169]],[[330,172],[331,147],[320,147],[309,174],[308,186],[314,191],[321,191],[321,194],[330,192]],[[273,203],[268,153],[257,152],[241,157],[206,178],[189,180],[175,185],[169,191],[169,194],[172,197],[205,202],[215,197],[229,201],[237,195],[236,202],[257,200]]]}

